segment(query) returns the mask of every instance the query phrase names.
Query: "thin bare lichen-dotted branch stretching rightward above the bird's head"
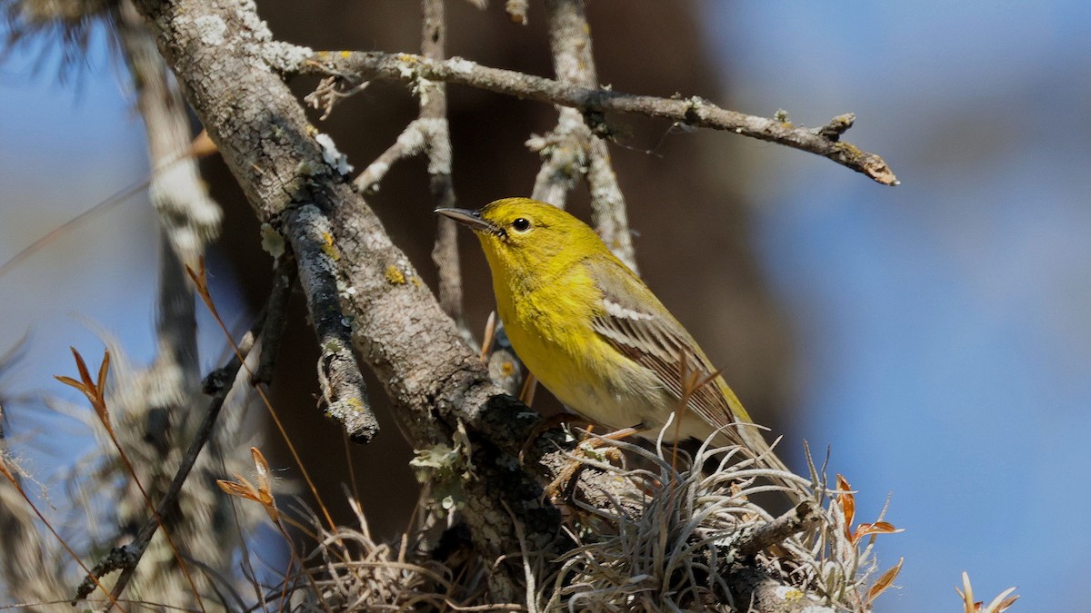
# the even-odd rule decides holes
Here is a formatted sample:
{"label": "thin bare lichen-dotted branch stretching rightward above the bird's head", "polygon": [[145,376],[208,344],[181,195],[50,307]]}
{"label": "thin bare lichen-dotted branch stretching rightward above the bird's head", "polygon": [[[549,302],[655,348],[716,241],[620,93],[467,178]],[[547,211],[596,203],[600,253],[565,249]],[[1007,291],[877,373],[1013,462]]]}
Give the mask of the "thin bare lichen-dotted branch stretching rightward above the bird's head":
{"label": "thin bare lichen-dotted branch stretching rightward above the bird's head", "polygon": [[375,79],[408,84],[425,79],[572,107],[585,116],[599,112],[658,117],[683,125],[724,130],[813,153],[862,172],[884,185],[898,184],[897,177],[882,157],[841,141],[841,135],[854,121],[851,113],[834,118],[818,129],[808,129],[789,121],[720,108],[697,96],[660,98],[625,94],[489,68],[463,58],[441,61],[411,53],[316,51],[299,64],[279,68],[284,72],[339,76],[352,86]]}

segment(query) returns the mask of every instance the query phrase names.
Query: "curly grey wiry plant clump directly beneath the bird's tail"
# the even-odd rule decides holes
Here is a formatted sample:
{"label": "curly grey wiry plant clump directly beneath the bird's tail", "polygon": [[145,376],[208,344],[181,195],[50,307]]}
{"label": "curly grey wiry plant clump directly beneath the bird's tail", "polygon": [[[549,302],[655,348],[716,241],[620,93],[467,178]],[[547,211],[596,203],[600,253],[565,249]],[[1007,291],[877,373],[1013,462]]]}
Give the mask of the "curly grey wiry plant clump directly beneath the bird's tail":
{"label": "curly grey wiry plant clump directly beneath the bird's tail", "polygon": [[[783,486],[767,483],[769,469],[738,461],[738,448],[706,444],[680,460],[681,452],[661,444],[611,444],[644,468],[584,461],[634,481],[639,497],[610,508],[574,503],[580,515],[570,530],[578,546],[542,590],[544,609],[745,610],[751,603],[735,601],[738,584],[756,568],[763,580],[817,597],[815,604],[861,610],[860,593],[875,569],[871,542],[851,541],[840,496],[830,497],[824,483],[812,489],[808,480],[778,472],[811,497],[774,517],[754,501]],[[628,510],[634,503],[638,514]]]}

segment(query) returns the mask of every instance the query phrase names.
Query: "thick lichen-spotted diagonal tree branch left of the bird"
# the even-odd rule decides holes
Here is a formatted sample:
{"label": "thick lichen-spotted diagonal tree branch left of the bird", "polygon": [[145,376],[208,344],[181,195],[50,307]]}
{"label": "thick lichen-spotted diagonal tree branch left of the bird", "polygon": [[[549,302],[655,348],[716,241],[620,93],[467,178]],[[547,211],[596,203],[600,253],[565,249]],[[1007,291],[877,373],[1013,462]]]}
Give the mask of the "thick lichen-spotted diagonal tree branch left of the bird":
{"label": "thick lichen-spotted diagonal tree branch left of the bird", "polygon": [[[514,401],[490,382],[374,213],[324,161],[301,105],[266,62],[272,35],[253,3],[142,0],[139,7],[257,217],[289,241],[296,228],[308,227],[286,224],[291,211],[307,207],[328,217],[352,339],[384,382],[412,445],[449,445],[465,424],[475,472],[461,483],[469,501],[464,516],[479,552],[504,560],[496,566],[493,598],[519,596],[523,568],[504,557],[519,550],[513,521],[539,550],[566,549],[558,538],[560,514],[541,503],[540,484],[516,459],[538,418],[513,410]],[[297,249],[301,271],[315,265],[311,254]],[[523,437],[511,440],[519,433]],[[497,497],[514,518],[495,504]]]}

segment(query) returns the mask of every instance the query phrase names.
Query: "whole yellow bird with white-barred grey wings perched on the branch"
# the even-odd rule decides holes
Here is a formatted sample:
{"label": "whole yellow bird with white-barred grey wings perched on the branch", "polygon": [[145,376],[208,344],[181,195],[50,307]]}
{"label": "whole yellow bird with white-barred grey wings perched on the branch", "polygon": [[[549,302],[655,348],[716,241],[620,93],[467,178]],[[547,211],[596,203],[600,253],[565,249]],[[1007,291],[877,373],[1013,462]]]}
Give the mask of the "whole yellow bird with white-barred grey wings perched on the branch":
{"label": "whole yellow bird with white-barred grey wings perched on the branch", "polygon": [[[587,224],[524,197],[436,213],[477,235],[512,347],[568,408],[655,438],[688,392],[666,440],[716,433],[718,444],[789,472],[690,333]],[[691,380],[706,384],[684,390]],[[774,480],[798,498],[794,483]]]}

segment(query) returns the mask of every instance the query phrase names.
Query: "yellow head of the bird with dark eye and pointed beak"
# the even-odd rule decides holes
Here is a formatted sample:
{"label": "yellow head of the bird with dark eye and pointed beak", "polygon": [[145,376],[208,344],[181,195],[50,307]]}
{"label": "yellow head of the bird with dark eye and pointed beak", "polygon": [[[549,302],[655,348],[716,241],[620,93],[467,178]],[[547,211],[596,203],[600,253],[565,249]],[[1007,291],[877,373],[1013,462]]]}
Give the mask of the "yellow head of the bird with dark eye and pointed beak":
{"label": "yellow head of the bird with dark eye and pointed beak", "polygon": [[536,200],[509,197],[480,211],[440,208],[436,213],[473,230],[493,277],[544,280],[585,257],[610,253],[587,224]]}

